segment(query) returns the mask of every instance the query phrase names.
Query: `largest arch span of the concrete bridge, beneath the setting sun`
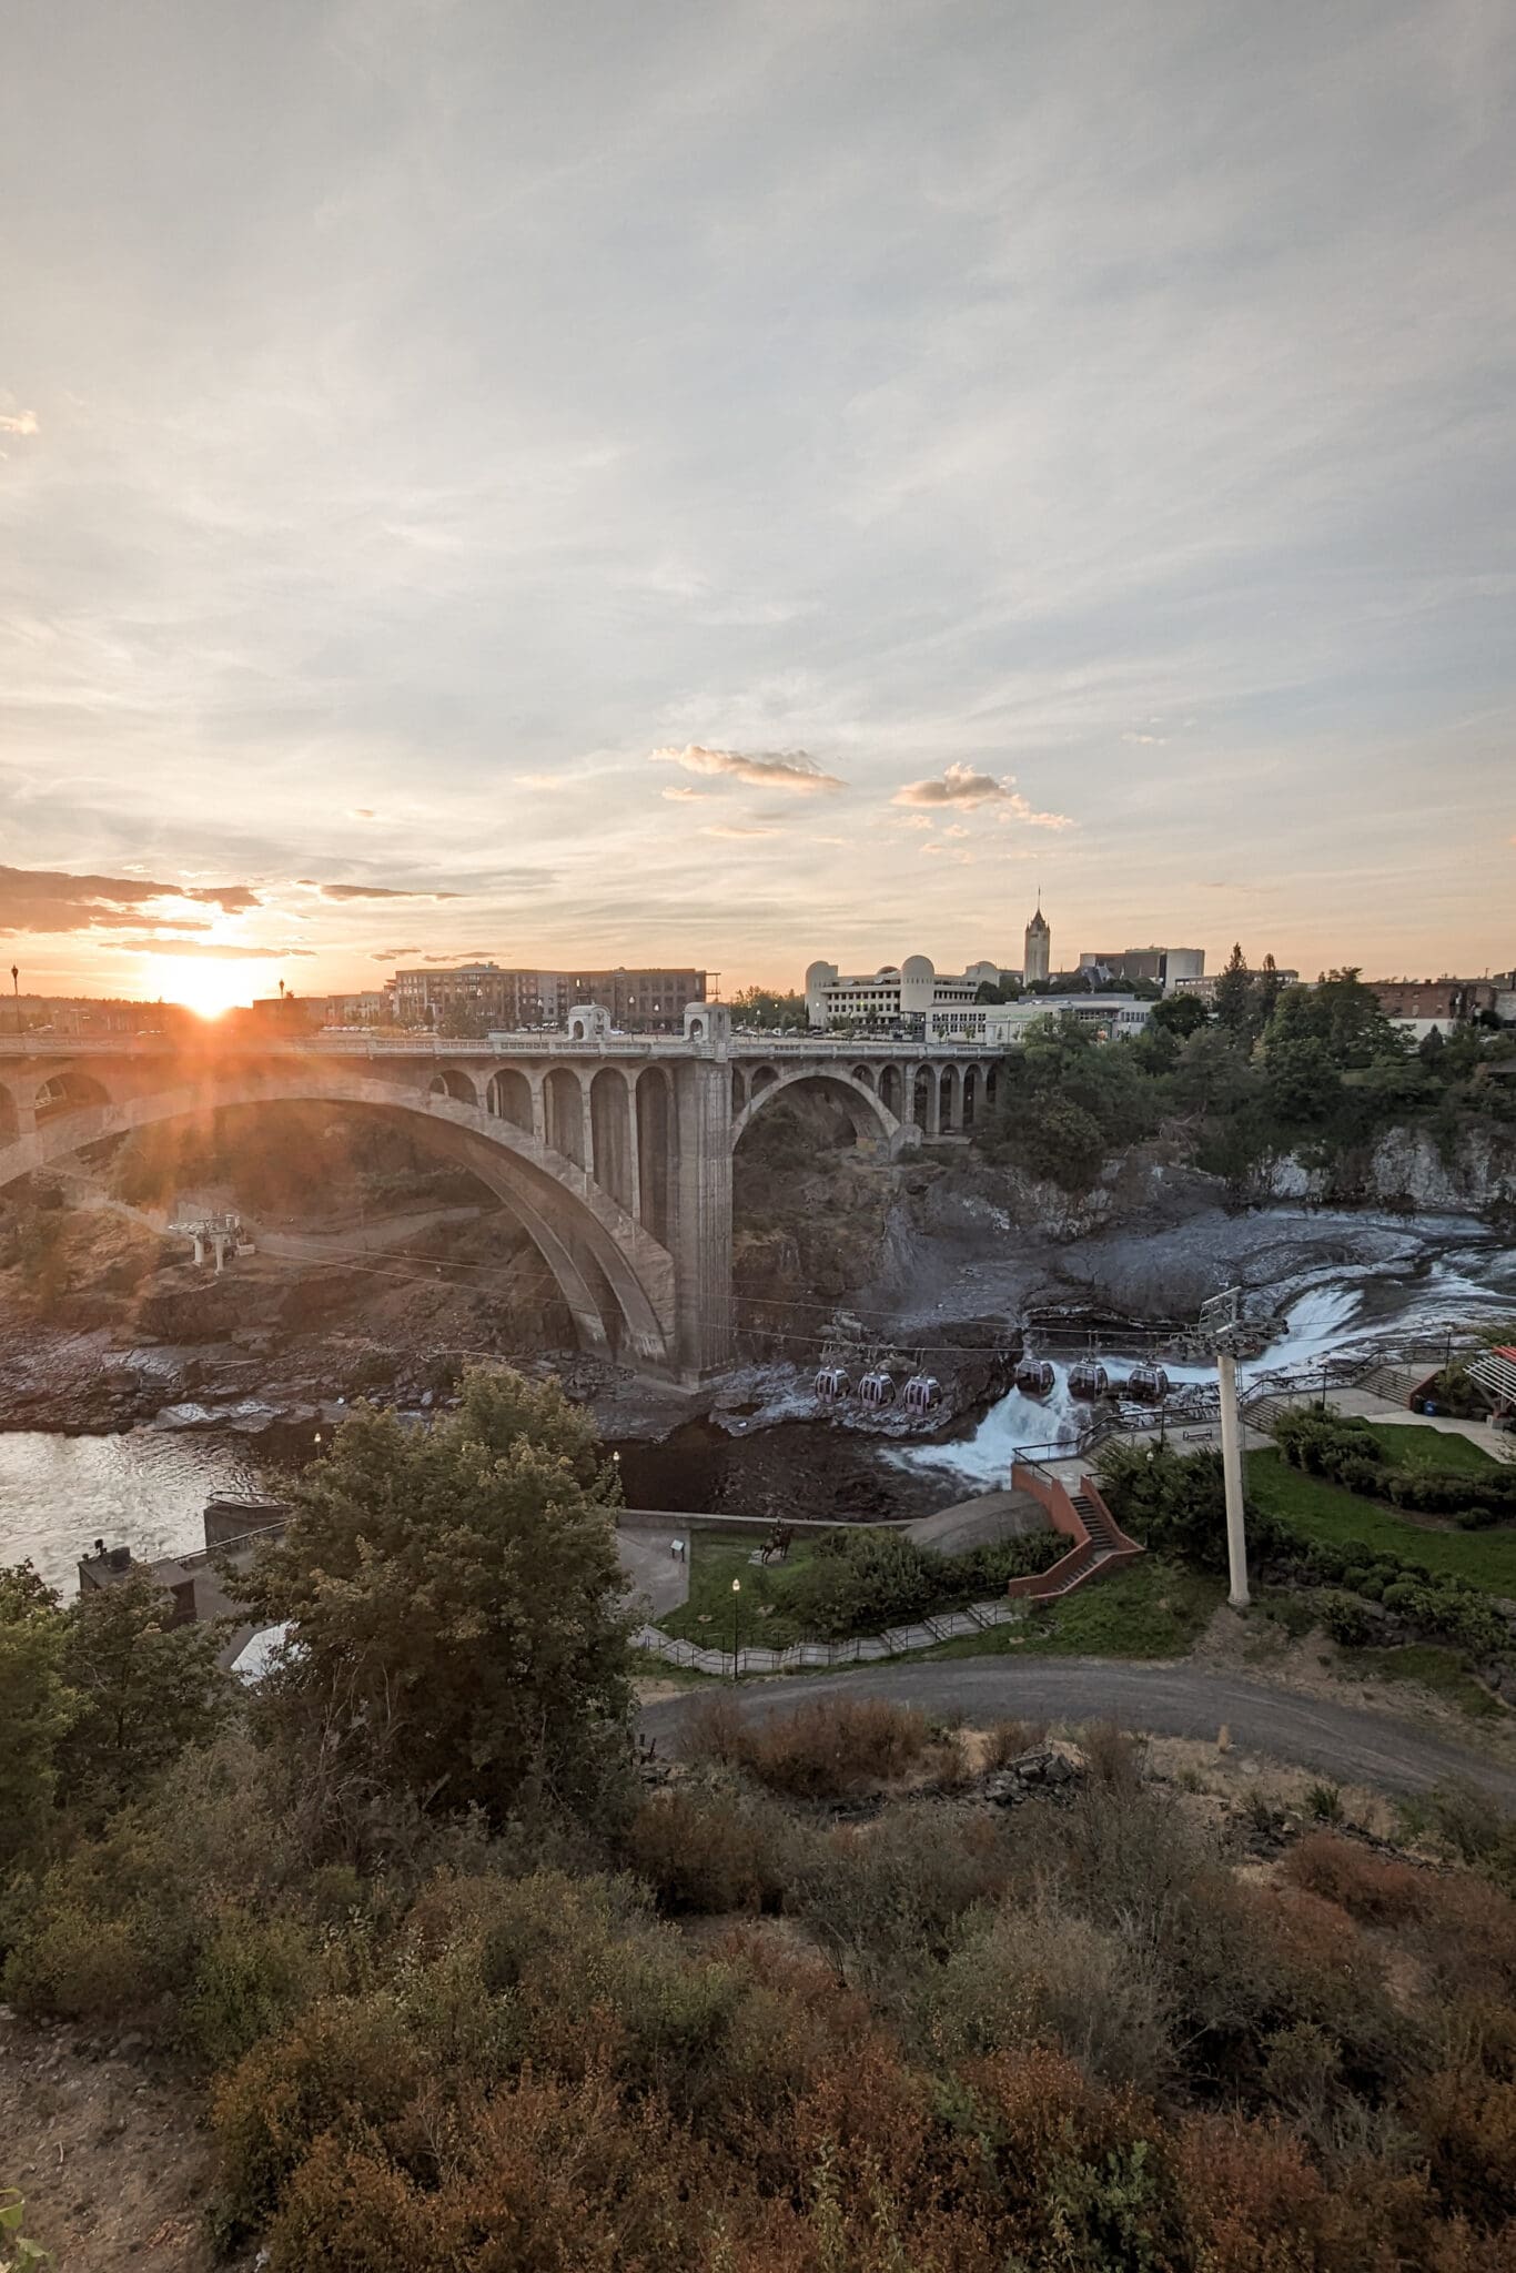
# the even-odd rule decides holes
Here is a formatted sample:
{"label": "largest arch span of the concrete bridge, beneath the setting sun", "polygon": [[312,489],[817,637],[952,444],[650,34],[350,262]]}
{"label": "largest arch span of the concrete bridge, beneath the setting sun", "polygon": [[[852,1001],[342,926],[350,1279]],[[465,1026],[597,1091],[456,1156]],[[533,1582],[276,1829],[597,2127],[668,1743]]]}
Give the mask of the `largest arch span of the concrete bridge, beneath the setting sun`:
{"label": "largest arch span of the concrete bridge, beneath the setting sun", "polygon": [[[93,1086],[100,1089],[98,1082]],[[675,1268],[668,1250],[580,1164],[527,1130],[436,1089],[407,1091],[291,1059],[275,1073],[195,1080],[116,1105],[39,1114],[34,1134],[0,1143],[0,1191],[109,1136],[230,1107],[286,1102],[343,1105],[425,1123],[436,1150],[477,1175],[520,1221],[559,1282],[586,1348],[623,1350],[661,1368],[675,1364]]]}

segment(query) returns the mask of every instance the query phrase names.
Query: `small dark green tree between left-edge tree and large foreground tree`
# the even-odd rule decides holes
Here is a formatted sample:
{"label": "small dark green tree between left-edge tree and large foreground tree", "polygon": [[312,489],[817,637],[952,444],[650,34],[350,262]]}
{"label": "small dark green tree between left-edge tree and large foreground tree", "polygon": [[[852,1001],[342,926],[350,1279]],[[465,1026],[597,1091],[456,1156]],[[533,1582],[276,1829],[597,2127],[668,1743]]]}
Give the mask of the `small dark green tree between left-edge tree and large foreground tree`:
{"label": "small dark green tree between left-edge tree and large foreground tree", "polygon": [[61,1673],[80,1709],[59,1750],[70,1789],[116,1807],[184,1746],[209,1743],[236,1700],[218,1643],[214,1625],[175,1625],[173,1596],[141,1568],[70,1602]]}

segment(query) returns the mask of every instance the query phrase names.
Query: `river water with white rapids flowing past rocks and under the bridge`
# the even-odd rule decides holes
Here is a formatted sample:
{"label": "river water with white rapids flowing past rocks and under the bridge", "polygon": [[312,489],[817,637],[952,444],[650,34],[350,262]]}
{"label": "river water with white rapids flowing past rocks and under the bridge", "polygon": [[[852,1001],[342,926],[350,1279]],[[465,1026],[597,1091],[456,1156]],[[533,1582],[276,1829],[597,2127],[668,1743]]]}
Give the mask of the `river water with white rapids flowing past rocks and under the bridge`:
{"label": "river water with white rapids flowing past rocks and under the bridge", "polygon": [[[1482,1225],[1468,1225],[1466,1241],[1441,1227],[1430,1257],[1334,1259],[1293,1273],[1277,1300],[1284,1330],[1252,1366],[1239,1368],[1243,1387],[1257,1373],[1368,1352],[1386,1334],[1430,1337],[1450,1321],[1516,1316],[1516,1248],[1493,1241]],[[1077,1437],[1091,1407],[1068,1396],[1066,1359],[1048,1355],[1057,1375],[1048,1398],[1011,1391],[946,1443],[886,1450],[816,1421],[786,1421],[752,1437],[695,1421],[664,1443],[627,1443],[627,1500],[843,1518],[921,1514],[1005,1482],[1021,1446]],[[1111,1343],[1096,1355],[1123,1375],[1146,1352]],[[1214,1380],[1207,1366],[1166,1364],[1166,1371],[1173,1382]],[[252,1446],[245,1437],[157,1427],[120,1437],[0,1432],[0,1562],[30,1555],[50,1584],[73,1593],[75,1562],[93,1539],[130,1546],[139,1557],[205,1546],[205,1502],[277,1491],[282,1455],[289,1448],[273,1439]]]}

